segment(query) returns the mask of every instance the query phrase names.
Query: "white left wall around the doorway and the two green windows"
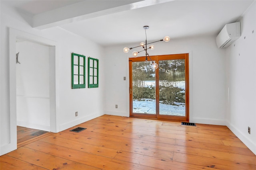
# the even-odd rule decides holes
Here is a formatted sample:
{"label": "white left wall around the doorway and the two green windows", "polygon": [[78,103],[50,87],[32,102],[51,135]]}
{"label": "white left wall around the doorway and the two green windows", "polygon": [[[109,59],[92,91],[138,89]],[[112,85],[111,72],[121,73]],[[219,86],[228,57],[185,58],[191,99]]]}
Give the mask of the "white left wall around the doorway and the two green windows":
{"label": "white left wall around the doorway and the two green windows", "polygon": [[[16,103],[16,78],[13,79],[13,77],[16,77],[16,63],[15,60],[13,62],[15,56],[9,55],[11,53],[9,49],[14,49],[12,53],[16,52],[16,45],[9,47],[9,36],[13,36],[10,35],[10,28],[23,31],[23,35],[29,34],[31,35],[30,37],[36,37],[36,39],[49,39],[50,42],[55,42],[56,44],[56,47],[50,49],[52,53],[54,48],[56,48],[56,64],[55,67],[50,67],[50,74],[55,74],[55,79],[50,78],[50,93],[54,93],[56,97],[56,100],[53,101],[56,105],[55,108],[51,108],[50,106],[50,110],[55,110],[56,112],[54,114],[56,117],[56,127],[53,128],[56,130],[54,130],[54,132],[62,131],[104,114],[104,58],[102,57],[103,48],[100,45],[78,35],[66,32],[58,27],[42,31],[33,29],[28,24],[32,20],[31,16],[20,14],[15,9],[8,8],[2,3],[0,16],[1,155],[16,149],[16,104],[15,107],[13,106],[13,102]],[[11,43],[12,42],[10,42],[10,44]],[[85,55],[86,59],[89,56],[99,59],[99,88],[88,89],[86,80],[86,88],[71,89],[72,52]],[[50,61],[53,60],[54,59],[50,59]],[[50,62],[50,65],[51,63],[52,62]],[[52,82],[52,80],[55,82]],[[14,92],[15,99],[13,99]],[[10,100],[12,102],[10,102]],[[76,111],[78,111],[78,117],[75,117]]]}

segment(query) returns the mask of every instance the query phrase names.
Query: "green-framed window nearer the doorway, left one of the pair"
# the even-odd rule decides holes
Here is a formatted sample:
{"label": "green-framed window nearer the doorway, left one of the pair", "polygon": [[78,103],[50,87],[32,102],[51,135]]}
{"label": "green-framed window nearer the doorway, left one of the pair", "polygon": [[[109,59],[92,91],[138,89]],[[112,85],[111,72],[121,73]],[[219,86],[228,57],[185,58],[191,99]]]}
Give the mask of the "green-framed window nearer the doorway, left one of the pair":
{"label": "green-framed window nearer the doorway, left one of the pair", "polygon": [[85,60],[84,55],[72,53],[72,89],[85,88]]}

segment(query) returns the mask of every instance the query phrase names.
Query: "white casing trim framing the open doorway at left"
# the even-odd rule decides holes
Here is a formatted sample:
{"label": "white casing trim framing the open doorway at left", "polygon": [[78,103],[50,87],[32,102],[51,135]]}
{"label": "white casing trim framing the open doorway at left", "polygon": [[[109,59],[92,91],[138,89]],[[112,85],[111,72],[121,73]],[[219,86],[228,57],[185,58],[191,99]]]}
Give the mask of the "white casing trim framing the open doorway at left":
{"label": "white casing trim framing the open doorway at left", "polygon": [[[57,43],[50,39],[44,37],[39,37],[30,33],[19,31],[17,29],[9,29],[9,84],[10,84],[10,117],[9,117],[9,127],[6,129],[6,144],[1,146],[1,154],[6,154],[12,150],[17,149],[17,104],[16,104],[16,41],[30,41],[33,43],[38,43],[41,45],[46,45],[49,47],[49,100],[50,100],[50,131],[57,132],[57,118],[58,118],[58,88],[59,86],[58,76],[56,75],[56,63],[58,59],[56,58],[56,46]],[[35,56],[36,57],[36,56]],[[21,63],[21,60],[18,59]],[[21,63],[22,64],[22,63]],[[32,63],[33,64],[33,63]],[[35,63],[37,64],[37,63]],[[33,70],[31,70],[32,72]],[[34,87],[36,88],[36,87]]]}

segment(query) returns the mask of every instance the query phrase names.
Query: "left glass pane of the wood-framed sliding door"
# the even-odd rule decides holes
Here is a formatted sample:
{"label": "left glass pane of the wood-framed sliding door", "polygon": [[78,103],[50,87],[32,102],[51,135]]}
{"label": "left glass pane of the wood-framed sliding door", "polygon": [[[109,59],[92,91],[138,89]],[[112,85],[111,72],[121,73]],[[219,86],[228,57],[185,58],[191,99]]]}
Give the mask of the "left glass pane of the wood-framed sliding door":
{"label": "left glass pane of the wood-framed sliding door", "polygon": [[156,80],[151,62],[132,63],[133,113],[156,114]]}

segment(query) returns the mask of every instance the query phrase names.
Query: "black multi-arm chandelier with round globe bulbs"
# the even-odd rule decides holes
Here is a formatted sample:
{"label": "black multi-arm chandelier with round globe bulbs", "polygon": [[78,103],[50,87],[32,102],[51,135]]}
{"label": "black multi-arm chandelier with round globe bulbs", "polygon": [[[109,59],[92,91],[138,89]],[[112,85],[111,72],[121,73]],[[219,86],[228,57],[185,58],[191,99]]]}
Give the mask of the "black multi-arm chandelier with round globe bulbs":
{"label": "black multi-arm chandelier with round globe bulbs", "polygon": [[[158,41],[165,41],[165,42],[168,42],[168,41],[170,41],[170,37],[169,37],[169,36],[165,36],[164,39],[160,39],[160,40],[154,41],[154,42],[152,42],[152,43],[147,43],[147,33],[146,33],[146,29],[148,29],[149,26],[144,26],[143,28],[145,29],[146,43],[141,42],[140,45],[137,46],[137,47],[142,47],[142,48],[143,48],[142,51],[145,51],[145,52],[146,52],[146,60],[145,60],[145,61],[148,61],[148,57],[149,57],[149,59],[150,59],[150,61],[151,61],[151,68],[152,68],[152,69],[157,69],[157,68],[158,68],[158,64],[156,64],[154,61],[152,61],[151,57],[148,55],[148,49],[153,50],[153,49],[154,49],[154,45],[150,45],[149,47],[147,47],[147,45],[152,44],[152,43],[156,43],[156,42],[158,42]],[[137,47],[131,47],[131,48],[125,47],[125,48],[123,49],[123,51],[124,51],[124,53],[128,53],[129,50],[134,49],[134,48],[137,48]],[[134,52],[132,52],[132,56],[133,56],[133,57],[138,57],[138,54],[139,54],[140,52],[142,52],[142,51],[134,51]]]}

